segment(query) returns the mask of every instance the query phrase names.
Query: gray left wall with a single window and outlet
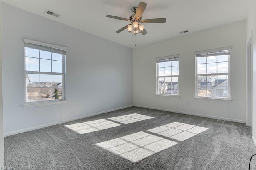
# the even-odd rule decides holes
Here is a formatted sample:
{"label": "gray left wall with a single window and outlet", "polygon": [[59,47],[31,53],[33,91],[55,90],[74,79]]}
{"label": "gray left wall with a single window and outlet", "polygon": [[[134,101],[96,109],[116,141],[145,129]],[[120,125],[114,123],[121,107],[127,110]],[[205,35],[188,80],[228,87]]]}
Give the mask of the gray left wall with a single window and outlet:
{"label": "gray left wall with a single window and outlet", "polygon": [[[22,107],[23,38],[68,48],[67,103]],[[2,3],[2,48],[5,135],[133,104],[132,49],[128,47]]]}

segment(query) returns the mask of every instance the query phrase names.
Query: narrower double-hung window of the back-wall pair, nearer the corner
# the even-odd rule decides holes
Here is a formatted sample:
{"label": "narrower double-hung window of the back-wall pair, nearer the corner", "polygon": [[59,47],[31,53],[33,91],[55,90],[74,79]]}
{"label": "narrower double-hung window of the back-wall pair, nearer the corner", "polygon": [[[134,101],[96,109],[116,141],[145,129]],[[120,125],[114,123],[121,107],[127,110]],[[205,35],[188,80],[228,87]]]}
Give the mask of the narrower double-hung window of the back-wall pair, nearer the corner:
{"label": "narrower double-hung window of the back-wall pair, nearer the corner", "polygon": [[156,92],[160,95],[179,95],[179,55],[156,58]]}

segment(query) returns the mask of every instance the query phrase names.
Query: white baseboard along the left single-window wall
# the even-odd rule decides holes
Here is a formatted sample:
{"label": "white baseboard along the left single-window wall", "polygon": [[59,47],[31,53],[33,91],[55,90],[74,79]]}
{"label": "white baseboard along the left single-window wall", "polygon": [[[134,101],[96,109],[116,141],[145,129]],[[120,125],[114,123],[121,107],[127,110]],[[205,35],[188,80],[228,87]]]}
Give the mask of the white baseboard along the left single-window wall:
{"label": "white baseboard along the left single-window wall", "polygon": [[78,120],[78,119],[83,119],[83,118],[86,118],[86,117],[91,117],[91,116],[95,116],[95,115],[100,115],[100,114],[108,113],[108,112],[111,112],[111,111],[116,111],[116,110],[120,110],[120,109],[125,109],[125,108],[132,107],[132,106],[133,106],[133,105],[124,106],[124,107],[119,107],[119,108],[116,108],[116,109],[111,109],[111,110],[107,110],[107,111],[101,111],[101,112],[98,112],[98,113],[92,113],[92,114],[90,114],[90,115],[84,115],[84,116],[80,116],[80,117],[74,117],[74,118],[72,118],[72,119],[66,119],[66,120],[63,120],[63,121],[58,121],[58,122],[49,123],[49,124],[45,124],[45,125],[30,127],[30,128],[26,128],[26,129],[20,129],[20,130],[18,130],[18,131],[7,132],[7,133],[4,133],[4,137],[10,136],[10,135],[15,135],[15,134],[18,134],[18,133],[27,132],[27,131],[33,131],[33,130],[36,130],[36,129],[41,129],[41,128],[44,128],[44,127],[53,126],[53,125],[57,125],[57,124],[61,124],[61,123],[66,123],[66,122],[69,122],[69,121],[74,121],[74,120]]}

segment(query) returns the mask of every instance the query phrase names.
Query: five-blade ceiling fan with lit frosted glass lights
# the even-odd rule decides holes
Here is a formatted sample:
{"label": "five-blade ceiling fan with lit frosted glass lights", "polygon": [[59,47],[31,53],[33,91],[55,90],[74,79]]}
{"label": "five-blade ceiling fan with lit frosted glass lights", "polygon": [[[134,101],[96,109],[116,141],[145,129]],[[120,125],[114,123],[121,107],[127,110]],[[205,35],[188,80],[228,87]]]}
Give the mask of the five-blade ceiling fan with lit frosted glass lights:
{"label": "five-blade ceiling fan with lit frosted glass lights", "polygon": [[133,7],[132,12],[134,12],[134,14],[131,15],[128,19],[118,17],[118,16],[111,16],[111,15],[107,15],[106,17],[130,22],[130,24],[117,30],[116,33],[120,33],[121,31],[124,31],[127,28],[128,32],[134,33],[134,35],[136,35],[138,32],[142,33],[142,35],[145,35],[148,32],[146,31],[146,29],[144,29],[144,25],[142,25],[141,23],[165,23],[166,22],[166,18],[154,18],[154,19],[143,20],[141,16],[146,6],[147,4],[145,2],[140,2],[138,7]]}

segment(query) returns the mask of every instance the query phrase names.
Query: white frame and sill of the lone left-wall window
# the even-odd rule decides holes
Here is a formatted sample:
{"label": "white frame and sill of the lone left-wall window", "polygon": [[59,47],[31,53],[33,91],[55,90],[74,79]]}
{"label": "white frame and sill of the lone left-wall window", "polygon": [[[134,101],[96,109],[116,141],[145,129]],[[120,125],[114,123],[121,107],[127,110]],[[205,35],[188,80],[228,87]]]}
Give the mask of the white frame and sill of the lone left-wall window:
{"label": "white frame and sill of the lone left-wall window", "polygon": [[[44,47],[50,47],[62,51],[66,51],[67,48],[60,46],[60,45],[54,45],[50,43],[44,43],[40,41],[35,41],[31,39],[23,39],[24,43],[30,43],[34,45],[41,45]],[[54,73],[54,72],[40,72],[39,71],[26,71],[26,55],[25,55],[25,44],[24,44],[24,105],[25,107],[35,107],[35,106],[44,106],[44,105],[51,105],[51,104],[62,104],[66,103],[65,98],[65,75],[66,75],[66,55],[62,55],[62,73]],[[56,100],[48,100],[48,101],[38,101],[38,102],[27,102],[27,76],[26,74],[48,74],[48,75],[62,75],[62,99],[56,99]]]}

